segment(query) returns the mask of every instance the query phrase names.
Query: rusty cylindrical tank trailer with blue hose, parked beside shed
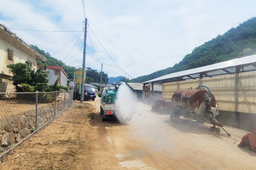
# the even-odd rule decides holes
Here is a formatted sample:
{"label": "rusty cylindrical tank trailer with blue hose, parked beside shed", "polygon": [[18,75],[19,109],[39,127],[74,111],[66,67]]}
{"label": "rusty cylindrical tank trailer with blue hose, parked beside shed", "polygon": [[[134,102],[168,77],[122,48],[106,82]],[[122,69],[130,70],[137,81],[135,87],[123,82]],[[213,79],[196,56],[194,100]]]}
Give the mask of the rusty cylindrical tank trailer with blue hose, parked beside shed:
{"label": "rusty cylindrical tank trailer with blue hose, parked beside shed", "polygon": [[231,136],[223,128],[224,125],[215,118],[219,114],[218,108],[219,105],[207,86],[199,86],[195,90],[178,90],[172,95],[170,119],[177,122],[180,116],[183,116],[198,122],[210,123],[213,124],[213,129],[220,132],[220,128],[222,128],[228,136]]}

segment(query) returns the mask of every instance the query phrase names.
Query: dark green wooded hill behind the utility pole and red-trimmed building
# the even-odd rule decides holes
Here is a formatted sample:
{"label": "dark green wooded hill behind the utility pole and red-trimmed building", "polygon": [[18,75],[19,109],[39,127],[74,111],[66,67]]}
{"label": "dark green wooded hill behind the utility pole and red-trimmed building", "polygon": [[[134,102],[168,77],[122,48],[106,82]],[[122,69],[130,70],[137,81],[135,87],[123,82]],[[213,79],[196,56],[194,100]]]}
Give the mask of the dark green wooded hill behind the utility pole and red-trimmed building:
{"label": "dark green wooded hill behind the utility pole and red-trimmed building", "polygon": [[[65,70],[65,72],[67,73],[69,79],[74,78],[75,70],[79,69],[79,68],[67,66],[61,60],[58,60],[56,58],[51,57],[51,55],[49,53],[47,53],[44,50],[38,48],[36,45],[30,45],[30,46],[32,48],[34,48],[39,54],[41,54],[42,56],[47,58],[46,62],[42,61],[42,63],[38,63],[38,64],[41,64],[41,65],[44,64],[46,66],[62,67]],[[102,82],[105,83],[106,79],[108,81],[108,75],[105,74],[102,71]],[[86,83],[88,83],[88,82],[96,82],[96,83],[100,82],[100,71],[91,69],[90,67],[87,67],[87,69],[86,69],[86,80],[85,81],[86,81]]]}

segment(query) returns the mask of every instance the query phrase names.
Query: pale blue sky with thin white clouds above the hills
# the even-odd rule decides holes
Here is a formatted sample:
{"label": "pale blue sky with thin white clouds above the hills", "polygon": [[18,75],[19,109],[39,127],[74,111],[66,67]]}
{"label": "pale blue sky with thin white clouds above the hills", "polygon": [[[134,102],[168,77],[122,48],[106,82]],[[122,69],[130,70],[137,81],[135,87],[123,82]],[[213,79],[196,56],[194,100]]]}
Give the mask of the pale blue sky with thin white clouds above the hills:
{"label": "pale blue sky with thin white clouds above the hills", "polygon": [[[10,6],[12,10],[6,8]],[[85,0],[92,30],[114,61],[134,78],[173,66],[195,47],[256,16],[255,8],[253,0]],[[81,0],[8,0],[0,6],[0,23],[10,28],[80,31],[82,21]],[[50,54],[77,34],[12,31]],[[78,56],[76,52],[83,46],[83,38],[81,35],[64,63],[82,64],[82,52]],[[75,41],[53,57],[63,60]],[[90,30],[86,51],[114,65]],[[101,64],[87,56],[86,67],[100,70]],[[125,75],[107,65],[103,70],[113,77]]]}

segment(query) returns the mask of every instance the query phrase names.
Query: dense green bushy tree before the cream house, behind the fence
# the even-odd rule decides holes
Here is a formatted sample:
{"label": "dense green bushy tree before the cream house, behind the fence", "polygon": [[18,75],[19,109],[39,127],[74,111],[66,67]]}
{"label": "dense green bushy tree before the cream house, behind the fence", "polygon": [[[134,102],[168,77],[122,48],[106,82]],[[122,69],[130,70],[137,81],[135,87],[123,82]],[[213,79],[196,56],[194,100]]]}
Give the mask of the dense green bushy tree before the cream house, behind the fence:
{"label": "dense green bushy tree before the cream house, behind the fence", "polygon": [[7,68],[13,73],[11,80],[16,92],[45,91],[47,88],[48,72],[44,68],[32,70],[27,61],[10,64]]}

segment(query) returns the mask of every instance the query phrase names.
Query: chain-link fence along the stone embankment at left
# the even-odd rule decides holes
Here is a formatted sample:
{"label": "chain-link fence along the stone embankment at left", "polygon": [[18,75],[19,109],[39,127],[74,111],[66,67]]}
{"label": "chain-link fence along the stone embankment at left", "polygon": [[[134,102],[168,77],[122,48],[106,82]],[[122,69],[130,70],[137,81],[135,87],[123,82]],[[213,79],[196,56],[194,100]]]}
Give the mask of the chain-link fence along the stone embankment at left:
{"label": "chain-link fence along the stone embankment at left", "polygon": [[73,90],[0,93],[0,157],[73,103]]}

